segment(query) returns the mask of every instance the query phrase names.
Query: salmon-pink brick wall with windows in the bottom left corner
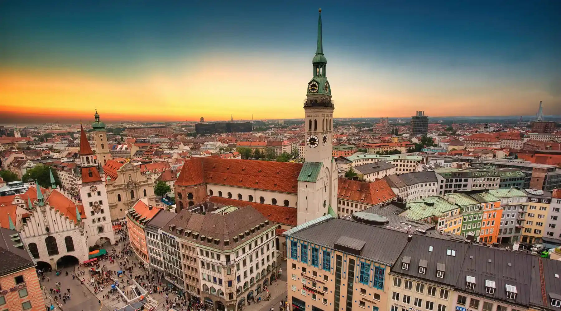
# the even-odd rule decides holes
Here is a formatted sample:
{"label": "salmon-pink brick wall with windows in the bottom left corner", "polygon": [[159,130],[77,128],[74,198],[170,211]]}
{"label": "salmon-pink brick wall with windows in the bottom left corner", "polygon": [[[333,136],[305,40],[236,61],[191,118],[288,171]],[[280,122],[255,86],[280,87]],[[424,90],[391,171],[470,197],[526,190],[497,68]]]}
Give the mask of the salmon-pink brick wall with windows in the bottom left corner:
{"label": "salmon-pink brick wall with windows in the bottom left corner", "polygon": [[[10,291],[12,288],[19,289],[16,285],[16,276],[24,276],[24,286],[21,288],[27,289],[27,296],[20,298],[19,290]],[[27,268],[24,271],[19,271],[10,275],[0,277],[0,286],[2,290],[0,295],[3,295],[6,299],[6,304],[2,305],[0,309],[8,308],[10,311],[22,311],[22,303],[25,301],[31,301],[31,309],[27,311],[43,311],[45,310],[45,305],[43,304],[44,294],[41,291],[41,286],[39,285],[39,279],[37,278],[37,272],[35,272],[35,267]],[[8,293],[3,294],[4,291]]]}

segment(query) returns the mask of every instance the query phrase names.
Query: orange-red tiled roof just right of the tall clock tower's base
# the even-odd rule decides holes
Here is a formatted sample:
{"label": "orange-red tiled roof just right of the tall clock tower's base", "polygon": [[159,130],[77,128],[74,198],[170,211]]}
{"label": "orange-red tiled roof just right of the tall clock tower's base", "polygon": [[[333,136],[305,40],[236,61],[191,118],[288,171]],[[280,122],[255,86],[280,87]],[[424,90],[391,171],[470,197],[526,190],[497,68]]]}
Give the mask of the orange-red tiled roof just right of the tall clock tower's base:
{"label": "orange-red tiled roof just right of the tall clock tower's base", "polygon": [[393,193],[388,183],[383,179],[374,182],[364,182],[339,178],[337,197],[339,199],[376,205],[396,197],[396,194]]}

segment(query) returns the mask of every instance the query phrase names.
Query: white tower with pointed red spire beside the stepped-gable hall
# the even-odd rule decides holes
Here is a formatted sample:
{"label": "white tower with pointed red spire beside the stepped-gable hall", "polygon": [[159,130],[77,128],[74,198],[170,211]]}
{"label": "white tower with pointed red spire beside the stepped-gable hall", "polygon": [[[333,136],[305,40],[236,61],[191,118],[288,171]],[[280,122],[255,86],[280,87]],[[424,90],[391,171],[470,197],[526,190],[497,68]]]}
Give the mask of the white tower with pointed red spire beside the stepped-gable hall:
{"label": "white tower with pointed red spire beside the stepped-gable hall", "polygon": [[[80,200],[84,205],[84,229],[88,247],[102,244],[105,241],[113,244],[115,235],[109,213],[109,201],[105,183],[98,171],[98,164],[94,162],[94,152],[86,137],[84,128],[80,126],[80,159],[81,183]],[[99,155],[98,155],[99,158]]]}

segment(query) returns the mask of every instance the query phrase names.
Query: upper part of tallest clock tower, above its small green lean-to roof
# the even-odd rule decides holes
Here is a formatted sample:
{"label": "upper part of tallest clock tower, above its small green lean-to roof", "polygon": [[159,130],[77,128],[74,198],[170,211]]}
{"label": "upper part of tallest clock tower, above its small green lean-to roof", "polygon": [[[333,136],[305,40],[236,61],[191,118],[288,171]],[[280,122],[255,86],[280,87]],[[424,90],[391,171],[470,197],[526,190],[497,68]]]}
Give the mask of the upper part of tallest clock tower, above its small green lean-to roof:
{"label": "upper part of tallest clock tower, above its small green lean-to roof", "polygon": [[307,86],[304,112],[305,124],[305,157],[309,162],[331,161],[333,154],[333,110],[331,100],[331,86],[327,81],[325,65],[327,59],[323,55],[323,40],[321,37],[321,8],[318,19],[318,43],[316,54],[312,60],[314,72]]}

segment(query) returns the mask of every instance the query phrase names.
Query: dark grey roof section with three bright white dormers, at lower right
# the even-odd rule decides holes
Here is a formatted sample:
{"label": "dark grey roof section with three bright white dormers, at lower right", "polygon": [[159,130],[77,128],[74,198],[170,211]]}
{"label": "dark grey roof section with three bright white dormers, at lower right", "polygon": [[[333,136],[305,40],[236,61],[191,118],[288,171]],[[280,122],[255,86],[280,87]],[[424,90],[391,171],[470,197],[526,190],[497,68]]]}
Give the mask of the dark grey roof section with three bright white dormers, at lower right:
{"label": "dark grey roof section with three bright white dormers, at lower right", "polygon": [[[456,289],[527,306],[530,303],[531,287],[540,287],[539,281],[530,286],[532,282],[530,267],[535,264],[532,257],[526,253],[471,244],[458,272]],[[475,277],[476,284],[473,290],[466,289],[466,275]],[[494,295],[486,293],[485,280],[495,282]],[[507,299],[505,284],[516,286],[518,294],[514,301]]]}

